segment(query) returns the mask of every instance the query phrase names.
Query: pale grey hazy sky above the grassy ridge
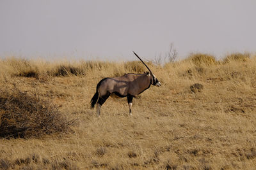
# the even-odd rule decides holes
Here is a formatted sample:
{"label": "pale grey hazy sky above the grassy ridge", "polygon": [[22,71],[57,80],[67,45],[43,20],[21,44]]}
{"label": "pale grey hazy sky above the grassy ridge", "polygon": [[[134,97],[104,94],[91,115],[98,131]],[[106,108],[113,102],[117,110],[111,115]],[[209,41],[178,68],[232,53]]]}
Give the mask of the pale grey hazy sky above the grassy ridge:
{"label": "pale grey hazy sky above the grassy ridge", "polygon": [[256,1],[0,1],[0,57],[154,59],[170,43],[180,59],[256,52]]}

